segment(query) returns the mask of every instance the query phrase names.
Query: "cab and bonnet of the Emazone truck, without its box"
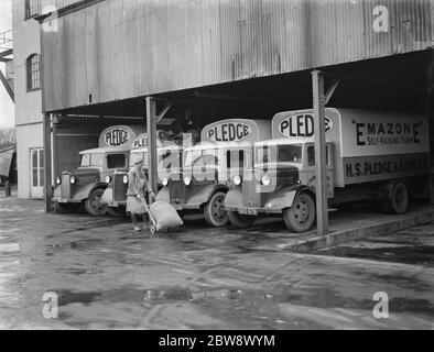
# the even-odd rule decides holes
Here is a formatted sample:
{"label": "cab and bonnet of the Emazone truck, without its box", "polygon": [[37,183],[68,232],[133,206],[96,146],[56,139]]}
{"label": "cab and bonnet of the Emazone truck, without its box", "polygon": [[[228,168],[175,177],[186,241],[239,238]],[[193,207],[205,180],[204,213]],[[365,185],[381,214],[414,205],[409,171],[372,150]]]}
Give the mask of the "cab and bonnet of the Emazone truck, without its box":
{"label": "cab and bonnet of the Emazone truck, without its box", "polygon": [[[333,144],[326,144],[327,189],[333,197]],[[313,139],[279,139],[256,143],[254,165],[246,169],[225,198],[236,228],[252,224],[259,213],[281,213],[287,228],[307,231],[315,221],[315,153]]]}

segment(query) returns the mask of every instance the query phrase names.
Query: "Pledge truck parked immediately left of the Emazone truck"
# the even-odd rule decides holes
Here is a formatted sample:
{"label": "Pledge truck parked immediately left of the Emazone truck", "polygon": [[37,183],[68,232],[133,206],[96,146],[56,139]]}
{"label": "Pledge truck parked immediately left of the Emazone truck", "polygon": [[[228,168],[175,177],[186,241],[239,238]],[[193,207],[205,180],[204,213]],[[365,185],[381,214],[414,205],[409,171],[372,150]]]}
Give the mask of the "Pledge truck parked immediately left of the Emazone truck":
{"label": "Pledge truck parked immediately left of the Emazone truck", "polygon": [[228,119],[204,127],[200,142],[184,148],[182,170],[163,178],[156,199],[169,201],[181,215],[203,211],[209,226],[225,226],[224,199],[232,176],[252,165],[253,143],[270,136],[265,120]]}

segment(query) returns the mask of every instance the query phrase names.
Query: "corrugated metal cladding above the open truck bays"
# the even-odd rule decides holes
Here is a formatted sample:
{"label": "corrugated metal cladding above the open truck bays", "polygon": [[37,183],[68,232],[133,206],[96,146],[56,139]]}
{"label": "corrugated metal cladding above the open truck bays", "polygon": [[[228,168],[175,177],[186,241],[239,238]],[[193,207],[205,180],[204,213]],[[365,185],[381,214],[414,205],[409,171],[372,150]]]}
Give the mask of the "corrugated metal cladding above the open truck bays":
{"label": "corrugated metal cladding above the open truck bays", "polygon": [[422,51],[433,1],[106,0],[43,35],[46,110]]}

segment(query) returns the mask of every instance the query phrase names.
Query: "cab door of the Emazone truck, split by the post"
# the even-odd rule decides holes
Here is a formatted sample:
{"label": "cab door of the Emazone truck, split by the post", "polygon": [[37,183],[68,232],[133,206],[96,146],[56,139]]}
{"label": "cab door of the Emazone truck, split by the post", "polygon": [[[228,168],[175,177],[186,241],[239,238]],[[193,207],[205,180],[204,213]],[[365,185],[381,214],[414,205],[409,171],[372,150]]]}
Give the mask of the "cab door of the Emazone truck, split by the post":
{"label": "cab door of the Emazone truck, split by the post", "polygon": [[[316,168],[315,168],[315,146],[312,143],[306,143],[305,148],[305,184],[307,186],[316,186]],[[334,161],[333,161],[333,145],[326,143],[326,163],[327,163],[327,198],[335,196],[335,177],[334,177]]]}

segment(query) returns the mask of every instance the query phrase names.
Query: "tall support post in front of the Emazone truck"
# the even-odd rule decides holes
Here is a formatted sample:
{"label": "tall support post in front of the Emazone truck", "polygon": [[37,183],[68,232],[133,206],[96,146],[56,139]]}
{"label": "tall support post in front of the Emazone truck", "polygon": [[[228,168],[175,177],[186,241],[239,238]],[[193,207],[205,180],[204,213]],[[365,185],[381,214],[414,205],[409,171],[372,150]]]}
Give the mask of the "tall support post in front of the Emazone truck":
{"label": "tall support post in front of the Emazone truck", "polygon": [[311,74],[314,106],[316,226],[318,234],[324,235],[328,230],[324,76],[319,70],[316,69]]}

